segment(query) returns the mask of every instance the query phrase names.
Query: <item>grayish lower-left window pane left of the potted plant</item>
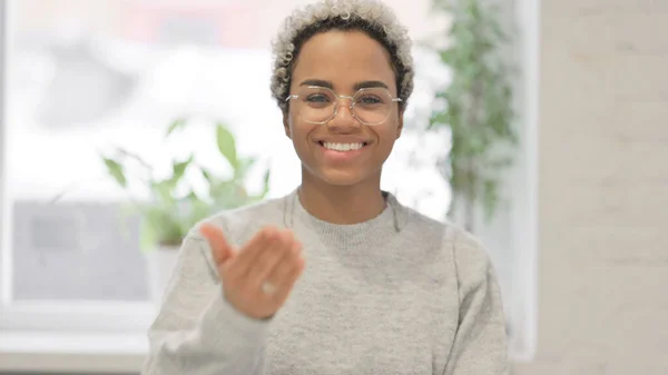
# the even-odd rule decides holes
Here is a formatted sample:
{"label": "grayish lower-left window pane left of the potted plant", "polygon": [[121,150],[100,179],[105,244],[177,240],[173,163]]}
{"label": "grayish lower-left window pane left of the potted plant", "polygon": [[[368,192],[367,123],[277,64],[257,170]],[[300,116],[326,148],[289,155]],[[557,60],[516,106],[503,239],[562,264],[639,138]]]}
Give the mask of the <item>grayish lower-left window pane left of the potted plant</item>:
{"label": "grayish lower-left window pane left of the potted plant", "polygon": [[21,199],[13,210],[14,298],[146,298],[138,220],[122,233],[117,205]]}

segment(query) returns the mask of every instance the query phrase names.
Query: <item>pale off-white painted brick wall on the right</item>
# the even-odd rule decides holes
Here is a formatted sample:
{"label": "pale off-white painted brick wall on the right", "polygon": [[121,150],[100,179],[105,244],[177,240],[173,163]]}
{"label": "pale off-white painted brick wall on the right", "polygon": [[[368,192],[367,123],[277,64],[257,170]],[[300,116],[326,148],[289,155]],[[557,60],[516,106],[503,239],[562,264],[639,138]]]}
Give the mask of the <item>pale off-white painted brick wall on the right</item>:
{"label": "pale off-white painted brick wall on the right", "polygon": [[514,374],[668,374],[668,1],[540,22],[538,349]]}

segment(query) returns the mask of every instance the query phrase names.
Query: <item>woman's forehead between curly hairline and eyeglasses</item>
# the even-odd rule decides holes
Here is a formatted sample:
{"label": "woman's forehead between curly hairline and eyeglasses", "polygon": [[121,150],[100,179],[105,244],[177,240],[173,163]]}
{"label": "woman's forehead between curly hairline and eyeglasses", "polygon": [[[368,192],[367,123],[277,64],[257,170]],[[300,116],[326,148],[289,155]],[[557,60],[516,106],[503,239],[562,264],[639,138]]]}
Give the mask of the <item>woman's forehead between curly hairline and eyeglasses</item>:
{"label": "woman's forehead between curly hairline and eyeglasses", "polygon": [[361,31],[331,30],[308,39],[297,57],[292,86],[306,79],[331,81],[341,93],[361,81],[384,82],[396,92],[390,53]]}

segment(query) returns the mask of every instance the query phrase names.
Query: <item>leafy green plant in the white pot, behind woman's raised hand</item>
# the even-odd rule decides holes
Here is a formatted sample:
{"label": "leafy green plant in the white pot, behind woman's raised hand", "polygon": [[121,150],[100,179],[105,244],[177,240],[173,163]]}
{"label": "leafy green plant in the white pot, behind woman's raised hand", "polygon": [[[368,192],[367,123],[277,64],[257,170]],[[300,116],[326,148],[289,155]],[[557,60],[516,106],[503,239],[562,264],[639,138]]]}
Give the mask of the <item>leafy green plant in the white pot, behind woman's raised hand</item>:
{"label": "leafy green plant in the white pot, behind woman's raised hand", "polygon": [[[185,127],[185,120],[174,121],[167,129],[166,138]],[[237,154],[235,138],[224,124],[216,124],[215,131],[217,149],[232,168],[230,176],[216,176],[199,165],[194,154],[183,160],[173,160],[170,174],[166,177],[157,177],[154,167],[138,155],[120,147],[116,148],[114,157],[101,157],[109,176],[124,189],[129,187],[129,165],[139,166],[141,172],[136,179],[150,193],[147,201],[131,203],[132,211],[138,213],[143,219],[143,248],[155,248],[156,245],[178,246],[202,219],[223,209],[256,203],[266,196],[269,170],[264,172],[262,191],[250,194],[245,184],[257,160],[253,157],[243,158]],[[206,193],[198,195],[185,178],[186,172],[193,169],[206,181]]]}

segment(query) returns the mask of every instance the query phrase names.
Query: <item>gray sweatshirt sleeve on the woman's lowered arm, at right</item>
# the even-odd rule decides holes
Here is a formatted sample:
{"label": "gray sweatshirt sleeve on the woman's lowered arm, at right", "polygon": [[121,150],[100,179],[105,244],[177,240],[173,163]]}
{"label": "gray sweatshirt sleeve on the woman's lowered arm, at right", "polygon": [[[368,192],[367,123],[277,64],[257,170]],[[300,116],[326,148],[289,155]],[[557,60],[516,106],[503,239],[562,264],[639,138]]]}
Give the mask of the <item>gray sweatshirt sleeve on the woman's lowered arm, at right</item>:
{"label": "gray sweatshirt sleeve on the woman's lowered arm, at right", "polygon": [[505,318],[493,266],[474,237],[463,231],[456,237],[459,325],[444,375],[507,375]]}

